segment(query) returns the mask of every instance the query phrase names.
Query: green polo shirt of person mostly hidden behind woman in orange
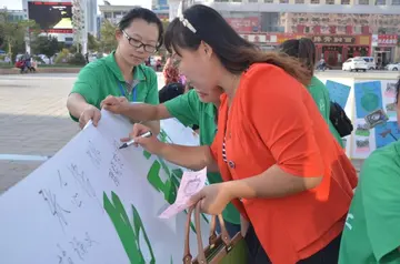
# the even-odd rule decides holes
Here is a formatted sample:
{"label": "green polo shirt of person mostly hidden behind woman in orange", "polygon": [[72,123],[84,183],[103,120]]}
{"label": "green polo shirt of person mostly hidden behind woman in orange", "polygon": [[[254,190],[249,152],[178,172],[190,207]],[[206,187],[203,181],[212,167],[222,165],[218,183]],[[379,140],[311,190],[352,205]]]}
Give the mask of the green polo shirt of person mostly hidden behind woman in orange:
{"label": "green polo shirt of person mostly hidden behind woman in orange", "polygon": [[[198,124],[200,126],[200,144],[211,145],[217,133],[216,113],[217,108],[212,103],[200,101],[194,90],[178,98],[164,102],[169,113],[184,125]],[[219,173],[208,173],[209,182],[220,183],[222,177]],[[223,219],[232,224],[240,224],[238,210],[229,203],[222,212]]]}

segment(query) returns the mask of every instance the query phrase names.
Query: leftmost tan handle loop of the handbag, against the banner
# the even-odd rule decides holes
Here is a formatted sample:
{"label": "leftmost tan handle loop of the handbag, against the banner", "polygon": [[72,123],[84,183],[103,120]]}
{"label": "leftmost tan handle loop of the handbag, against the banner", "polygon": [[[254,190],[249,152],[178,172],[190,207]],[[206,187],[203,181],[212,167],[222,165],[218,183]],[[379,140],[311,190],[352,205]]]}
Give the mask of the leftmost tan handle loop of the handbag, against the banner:
{"label": "leftmost tan handle loop of the handbag, against the banner", "polygon": [[192,255],[190,254],[190,245],[189,245],[190,242],[189,234],[190,234],[191,215],[193,210],[194,210],[194,229],[196,229],[196,236],[198,243],[198,261],[200,264],[207,264],[204,247],[201,238],[201,229],[200,229],[200,202],[191,206],[188,211],[188,219],[186,223],[183,264],[192,264]]}

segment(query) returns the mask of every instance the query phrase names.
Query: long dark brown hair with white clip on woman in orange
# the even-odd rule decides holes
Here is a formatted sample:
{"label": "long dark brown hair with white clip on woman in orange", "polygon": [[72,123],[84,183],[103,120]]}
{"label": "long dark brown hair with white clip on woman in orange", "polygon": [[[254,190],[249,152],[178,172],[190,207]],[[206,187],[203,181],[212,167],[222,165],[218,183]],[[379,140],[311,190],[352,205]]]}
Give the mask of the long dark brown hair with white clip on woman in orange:
{"label": "long dark brown hair with white clip on woman in orange", "polygon": [[[183,19],[183,21],[181,21]],[[184,19],[196,29],[186,26]],[[247,70],[257,62],[282,68],[304,85],[309,84],[309,72],[296,59],[277,52],[263,52],[241,38],[212,8],[196,4],[184,10],[182,18],[176,18],[168,27],[164,44],[169,52],[180,49],[197,50],[204,41],[217,54],[223,67],[233,74]]]}

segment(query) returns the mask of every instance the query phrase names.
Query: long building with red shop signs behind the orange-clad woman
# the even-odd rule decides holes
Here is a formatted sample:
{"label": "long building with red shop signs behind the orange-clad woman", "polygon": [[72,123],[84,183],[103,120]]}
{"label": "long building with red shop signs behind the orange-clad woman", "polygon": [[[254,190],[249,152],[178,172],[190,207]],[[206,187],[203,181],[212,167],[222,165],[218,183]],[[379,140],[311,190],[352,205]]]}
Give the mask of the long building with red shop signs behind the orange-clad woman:
{"label": "long building with red shop signs behind the orange-clad woman", "polygon": [[393,62],[400,33],[400,0],[216,0],[218,10],[243,38],[273,49],[287,39],[312,38],[318,57],[340,65],[371,55]]}

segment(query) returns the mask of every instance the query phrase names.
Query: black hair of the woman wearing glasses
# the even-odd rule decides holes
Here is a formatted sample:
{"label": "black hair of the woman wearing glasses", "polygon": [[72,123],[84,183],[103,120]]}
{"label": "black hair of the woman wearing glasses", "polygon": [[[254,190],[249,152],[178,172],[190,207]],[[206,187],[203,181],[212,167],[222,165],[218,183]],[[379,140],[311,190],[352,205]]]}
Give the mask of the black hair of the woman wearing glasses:
{"label": "black hair of the woman wearing glasses", "polygon": [[163,42],[163,26],[162,26],[161,20],[157,17],[157,14],[149,9],[133,8],[131,10],[129,10],[129,12],[126,13],[126,16],[123,16],[121,21],[118,23],[118,29],[121,31],[124,30],[136,19],[142,19],[148,23],[157,24],[157,28],[159,30],[159,37],[157,40],[157,49],[159,49]]}

